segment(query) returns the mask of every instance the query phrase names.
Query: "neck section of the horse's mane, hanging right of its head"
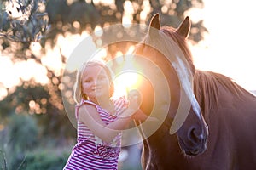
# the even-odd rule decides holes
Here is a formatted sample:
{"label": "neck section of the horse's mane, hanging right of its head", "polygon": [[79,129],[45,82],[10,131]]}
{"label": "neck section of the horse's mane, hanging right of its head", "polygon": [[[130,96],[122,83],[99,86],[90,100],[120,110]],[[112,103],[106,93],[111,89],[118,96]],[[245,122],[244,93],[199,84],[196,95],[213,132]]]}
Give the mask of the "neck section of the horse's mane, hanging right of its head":
{"label": "neck section of the horse's mane, hanging right of its head", "polygon": [[219,95],[224,93],[223,91],[220,92],[220,89],[224,89],[225,92],[236,98],[242,98],[245,94],[249,94],[244,88],[233,82],[230,77],[212,71],[195,71],[194,93],[206,117],[208,117],[209,111],[219,105]]}

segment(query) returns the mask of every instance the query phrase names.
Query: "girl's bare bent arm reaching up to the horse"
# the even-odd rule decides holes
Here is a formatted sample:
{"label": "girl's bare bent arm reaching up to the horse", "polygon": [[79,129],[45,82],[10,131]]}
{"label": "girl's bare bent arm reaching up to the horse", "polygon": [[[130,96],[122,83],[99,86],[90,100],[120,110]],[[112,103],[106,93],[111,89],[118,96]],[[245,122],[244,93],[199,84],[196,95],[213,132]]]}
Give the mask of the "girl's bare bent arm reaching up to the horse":
{"label": "girl's bare bent arm reaching up to the horse", "polygon": [[138,110],[137,99],[130,101],[129,107],[114,121],[106,125],[102,122],[96,107],[82,105],[79,108],[79,121],[90,128],[90,131],[105,142],[111,142],[131,121],[131,116]]}

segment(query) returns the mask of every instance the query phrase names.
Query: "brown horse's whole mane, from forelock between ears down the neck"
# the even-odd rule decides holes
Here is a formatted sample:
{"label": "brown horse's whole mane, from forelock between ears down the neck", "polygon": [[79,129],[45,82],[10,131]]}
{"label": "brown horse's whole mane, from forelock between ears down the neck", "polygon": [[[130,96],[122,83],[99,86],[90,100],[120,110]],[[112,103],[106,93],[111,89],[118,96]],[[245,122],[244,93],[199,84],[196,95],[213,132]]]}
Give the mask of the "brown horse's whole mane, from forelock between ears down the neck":
{"label": "brown horse's whole mane, from forelock between ears down the neck", "polygon": [[[187,59],[191,72],[194,73],[194,92],[195,97],[201,105],[201,110],[204,115],[208,115],[209,111],[218,107],[220,85],[224,88],[225,92],[230,92],[234,97],[242,98],[248,93],[244,88],[241,88],[236,82],[233,82],[230,77],[225,77],[212,71],[198,71],[195,70],[193,63],[193,56],[189,50],[186,39],[181,37],[175,28],[171,26],[163,26],[160,31],[164,32],[168,37],[171,37],[178,47],[182,50],[184,57]],[[253,95],[253,94],[251,94]],[[208,116],[207,116],[208,117]]]}

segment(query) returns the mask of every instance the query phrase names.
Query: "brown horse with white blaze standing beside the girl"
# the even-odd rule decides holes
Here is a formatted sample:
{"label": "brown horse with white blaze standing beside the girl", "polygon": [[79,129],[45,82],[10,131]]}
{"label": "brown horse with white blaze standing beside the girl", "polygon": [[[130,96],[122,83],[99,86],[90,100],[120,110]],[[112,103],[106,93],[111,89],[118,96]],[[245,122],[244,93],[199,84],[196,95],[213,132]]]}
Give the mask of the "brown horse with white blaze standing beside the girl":
{"label": "brown horse with white blaze standing beside the girl", "polygon": [[[256,97],[230,77],[195,68],[186,42],[190,27],[189,17],[177,29],[160,26],[160,16],[155,14],[146,36],[134,51],[136,61],[148,59],[161,69],[170,89],[166,95],[171,98],[165,120],[152,135],[147,136],[147,127],[140,127],[142,136],[146,134],[142,167],[146,170],[255,169]],[[145,79],[137,89],[143,96],[141,110],[152,116],[150,105],[154,105],[158,95],[154,84]],[[175,116],[180,114],[177,110],[183,103],[181,91],[189,95],[191,105],[174,135],[170,128]]]}

